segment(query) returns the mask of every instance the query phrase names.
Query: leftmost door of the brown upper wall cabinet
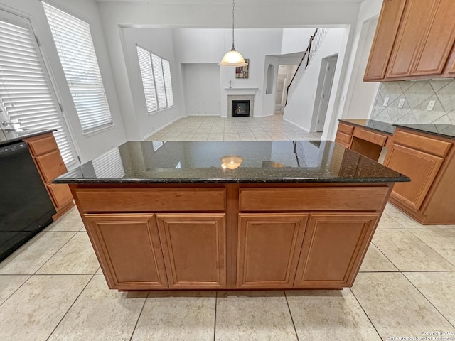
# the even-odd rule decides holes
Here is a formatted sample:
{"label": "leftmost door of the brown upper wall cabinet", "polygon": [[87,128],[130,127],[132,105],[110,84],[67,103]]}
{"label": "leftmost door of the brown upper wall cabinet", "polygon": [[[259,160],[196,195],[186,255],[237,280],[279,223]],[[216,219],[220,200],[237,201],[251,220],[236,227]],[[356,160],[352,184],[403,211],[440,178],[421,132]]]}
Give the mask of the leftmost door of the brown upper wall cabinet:
{"label": "leftmost door of the brown upper wall cabinet", "polygon": [[405,3],[405,0],[385,0],[382,3],[378,27],[363,80],[384,79]]}

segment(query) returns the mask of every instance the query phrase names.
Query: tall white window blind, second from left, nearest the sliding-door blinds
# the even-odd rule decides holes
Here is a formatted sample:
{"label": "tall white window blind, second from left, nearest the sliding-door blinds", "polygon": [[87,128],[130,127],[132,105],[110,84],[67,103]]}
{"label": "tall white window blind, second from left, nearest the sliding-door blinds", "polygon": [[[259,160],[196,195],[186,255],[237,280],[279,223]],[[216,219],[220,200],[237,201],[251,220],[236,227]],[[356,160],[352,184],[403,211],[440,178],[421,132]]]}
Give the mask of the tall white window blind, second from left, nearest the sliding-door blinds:
{"label": "tall white window blind, second from left, nearest the sliding-door blinds", "polygon": [[89,24],[45,2],[43,6],[82,131],[112,124]]}

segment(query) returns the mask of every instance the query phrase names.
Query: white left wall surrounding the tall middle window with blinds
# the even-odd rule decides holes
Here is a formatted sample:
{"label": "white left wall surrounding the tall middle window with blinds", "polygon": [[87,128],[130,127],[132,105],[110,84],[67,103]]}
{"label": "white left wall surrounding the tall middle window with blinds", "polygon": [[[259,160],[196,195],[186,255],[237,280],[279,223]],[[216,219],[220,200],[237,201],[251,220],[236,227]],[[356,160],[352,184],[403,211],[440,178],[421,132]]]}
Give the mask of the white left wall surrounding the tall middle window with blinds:
{"label": "white left wall surrounding the tall middle window with blinds", "polygon": [[45,58],[46,66],[53,78],[54,87],[58,92],[59,100],[63,105],[65,121],[70,129],[72,140],[77,149],[82,162],[95,158],[107,151],[113,146],[118,146],[126,141],[122,114],[117,102],[117,92],[112,78],[111,63],[109,53],[105,45],[105,37],[100,23],[100,12],[94,0],[65,1],[52,0],[48,1],[59,9],[70,13],[83,21],[90,23],[90,31],[95,45],[98,64],[102,80],[105,85],[107,101],[112,114],[114,126],[97,134],[84,136],[82,127],[77,117],[77,112],[70,94],[68,83],[63,73],[58,53],[53,43],[47,18],[45,17],[43,4],[38,0],[2,0],[0,9],[21,15],[31,20],[34,33],[41,42],[41,52]]}

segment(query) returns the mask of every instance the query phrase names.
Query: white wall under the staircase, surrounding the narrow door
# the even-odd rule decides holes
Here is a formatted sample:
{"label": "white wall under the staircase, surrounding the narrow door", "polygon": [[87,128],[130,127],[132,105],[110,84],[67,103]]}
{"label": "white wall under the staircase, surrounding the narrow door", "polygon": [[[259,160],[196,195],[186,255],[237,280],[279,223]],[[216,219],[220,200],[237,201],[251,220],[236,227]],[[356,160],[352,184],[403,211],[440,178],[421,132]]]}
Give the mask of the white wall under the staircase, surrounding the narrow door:
{"label": "white wall under the staircase, surrounding the narrow door", "polygon": [[[306,67],[303,77],[299,85],[297,85],[294,93],[288,98],[287,106],[284,108],[283,118],[294,124],[297,124],[302,129],[310,131],[311,122],[314,112],[314,99],[316,98],[316,91],[319,84],[319,74],[321,70],[321,61],[330,55],[338,54],[338,63],[336,67],[335,76],[333,77],[333,87],[331,93],[331,100],[328,104],[326,120],[330,120],[331,112],[333,112],[333,104],[336,94],[336,87],[340,80],[341,67],[340,59],[344,53],[343,38],[346,36],[345,28],[331,28],[326,38],[319,46],[316,54],[310,60],[308,67]],[[341,55],[341,58],[340,58]]]}

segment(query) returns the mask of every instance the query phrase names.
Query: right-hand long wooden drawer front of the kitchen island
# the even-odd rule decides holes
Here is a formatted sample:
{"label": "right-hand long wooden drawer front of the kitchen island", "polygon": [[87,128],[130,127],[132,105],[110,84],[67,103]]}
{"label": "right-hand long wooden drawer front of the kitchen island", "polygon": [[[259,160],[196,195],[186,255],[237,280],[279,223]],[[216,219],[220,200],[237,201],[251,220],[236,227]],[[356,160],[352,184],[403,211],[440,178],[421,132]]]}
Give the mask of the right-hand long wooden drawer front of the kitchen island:
{"label": "right-hand long wooden drawer front of the kitchen island", "polygon": [[240,210],[380,210],[387,190],[387,187],[240,188]]}

